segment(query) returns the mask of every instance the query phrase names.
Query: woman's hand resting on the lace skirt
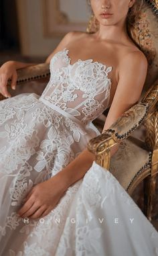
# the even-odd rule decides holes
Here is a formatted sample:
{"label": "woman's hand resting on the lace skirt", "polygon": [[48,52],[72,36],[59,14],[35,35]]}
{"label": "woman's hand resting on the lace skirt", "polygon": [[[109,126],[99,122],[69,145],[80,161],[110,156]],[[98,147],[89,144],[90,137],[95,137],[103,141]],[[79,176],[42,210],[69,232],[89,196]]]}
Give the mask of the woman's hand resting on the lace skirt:
{"label": "woman's hand resting on the lace skirt", "polygon": [[67,187],[61,177],[55,175],[48,181],[35,185],[25,198],[25,204],[17,212],[21,218],[40,218],[48,215],[58,204]]}

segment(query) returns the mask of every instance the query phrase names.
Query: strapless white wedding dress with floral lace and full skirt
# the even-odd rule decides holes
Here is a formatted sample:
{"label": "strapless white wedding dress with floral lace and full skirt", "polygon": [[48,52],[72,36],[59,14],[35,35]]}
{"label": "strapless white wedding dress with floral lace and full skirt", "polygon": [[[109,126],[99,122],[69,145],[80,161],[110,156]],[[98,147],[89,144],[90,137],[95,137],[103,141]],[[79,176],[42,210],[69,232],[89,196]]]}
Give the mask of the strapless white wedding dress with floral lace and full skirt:
{"label": "strapless white wedding dress with floral lace and full skirt", "polygon": [[153,225],[95,161],[50,214],[36,220],[16,214],[33,185],[56,175],[100,134],[92,120],[108,107],[111,70],[92,59],[72,64],[65,48],[52,57],[41,96],[0,101],[1,256],[158,255]]}

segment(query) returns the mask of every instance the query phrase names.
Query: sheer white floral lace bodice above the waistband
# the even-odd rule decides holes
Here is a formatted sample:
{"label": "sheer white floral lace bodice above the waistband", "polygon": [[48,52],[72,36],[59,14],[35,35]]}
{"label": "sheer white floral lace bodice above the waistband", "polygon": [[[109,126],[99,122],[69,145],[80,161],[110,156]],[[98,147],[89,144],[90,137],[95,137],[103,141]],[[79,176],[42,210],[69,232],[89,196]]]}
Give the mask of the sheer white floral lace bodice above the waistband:
{"label": "sheer white floral lace bodice above the waistband", "polygon": [[41,98],[88,124],[108,107],[111,70],[92,59],[71,64],[68,49],[64,48],[50,61],[50,81]]}

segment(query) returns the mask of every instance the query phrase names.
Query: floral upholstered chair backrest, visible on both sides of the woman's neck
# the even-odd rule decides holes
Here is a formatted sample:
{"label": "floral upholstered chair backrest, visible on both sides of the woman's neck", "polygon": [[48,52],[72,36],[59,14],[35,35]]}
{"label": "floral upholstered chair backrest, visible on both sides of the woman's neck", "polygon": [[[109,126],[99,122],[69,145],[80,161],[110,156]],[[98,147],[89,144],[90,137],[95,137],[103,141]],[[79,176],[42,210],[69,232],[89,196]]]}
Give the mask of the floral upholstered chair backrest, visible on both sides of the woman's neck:
{"label": "floral upholstered chair backrest, visible on both sides of the woman's neck", "polygon": [[[92,16],[86,31],[94,33],[98,30],[98,21]],[[147,78],[141,97],[158,79],[158,1],[144,0],[143,7],[133,28],[131,38],[139,45],[148,60]]]}

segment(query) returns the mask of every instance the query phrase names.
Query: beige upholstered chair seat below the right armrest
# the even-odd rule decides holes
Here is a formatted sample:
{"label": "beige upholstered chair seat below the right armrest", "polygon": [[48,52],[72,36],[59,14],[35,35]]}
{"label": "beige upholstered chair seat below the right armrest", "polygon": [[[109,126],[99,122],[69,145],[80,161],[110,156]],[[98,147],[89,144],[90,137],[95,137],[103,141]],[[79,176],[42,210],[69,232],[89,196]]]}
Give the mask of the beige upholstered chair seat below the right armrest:
{"label": "beige upholstered chair seat below the right armrest", "polygon": [[[127,189],[135,175],[149,164],[149,152],[141,148],[132,136],[121,141],[118,151],[110,158],[109,171]],[[149,165],[148,165],[149,167]]]}

